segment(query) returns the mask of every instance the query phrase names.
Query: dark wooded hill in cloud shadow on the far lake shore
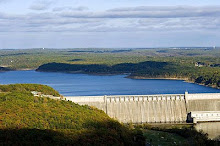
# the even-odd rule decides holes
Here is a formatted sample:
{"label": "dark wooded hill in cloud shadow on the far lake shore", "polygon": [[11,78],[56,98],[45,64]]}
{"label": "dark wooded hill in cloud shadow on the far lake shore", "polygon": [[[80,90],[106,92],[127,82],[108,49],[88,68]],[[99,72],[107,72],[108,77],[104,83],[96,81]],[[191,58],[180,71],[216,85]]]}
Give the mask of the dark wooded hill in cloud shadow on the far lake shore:
{"label": "dark wooded hill in cloud shadow on the far lake shore", "polygon": [[103,64],[67,64],[67,63],[47,63],[38,67],[37,71],[51,72],[84,72],[97,74],[120,74],[120,73],[144,73],[154,72],[159,74],[168,63],[146,61],[140,63],[121,63],[113,66]]}

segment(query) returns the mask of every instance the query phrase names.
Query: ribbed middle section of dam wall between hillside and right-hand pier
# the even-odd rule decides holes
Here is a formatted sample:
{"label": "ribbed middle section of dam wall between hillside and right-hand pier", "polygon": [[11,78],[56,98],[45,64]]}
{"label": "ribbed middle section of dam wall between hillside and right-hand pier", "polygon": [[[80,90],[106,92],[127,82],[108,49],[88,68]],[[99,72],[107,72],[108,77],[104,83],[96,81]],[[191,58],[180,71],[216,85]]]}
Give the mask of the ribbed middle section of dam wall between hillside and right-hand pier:
{"label": "ribbed middle section of dam wall between hillside and right-hand pier", "polygon": [[186,107],[183,95],[119,96],[107,98],[107,114],[123,123],[182,122]]}

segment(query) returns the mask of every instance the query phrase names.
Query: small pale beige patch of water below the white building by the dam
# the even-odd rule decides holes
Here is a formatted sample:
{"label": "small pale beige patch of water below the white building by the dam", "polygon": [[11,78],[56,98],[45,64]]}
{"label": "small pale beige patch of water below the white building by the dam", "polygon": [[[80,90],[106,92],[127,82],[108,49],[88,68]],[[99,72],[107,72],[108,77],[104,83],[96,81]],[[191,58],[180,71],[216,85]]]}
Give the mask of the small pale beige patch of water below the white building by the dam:
{"label": "small pale beige patch of water below the white building by the dam", "polygon": [[195,128],[198,131],[202,130],[204,133],[208,133],[208,137],[211,139],[220,136],[220,122],[197,123]]}

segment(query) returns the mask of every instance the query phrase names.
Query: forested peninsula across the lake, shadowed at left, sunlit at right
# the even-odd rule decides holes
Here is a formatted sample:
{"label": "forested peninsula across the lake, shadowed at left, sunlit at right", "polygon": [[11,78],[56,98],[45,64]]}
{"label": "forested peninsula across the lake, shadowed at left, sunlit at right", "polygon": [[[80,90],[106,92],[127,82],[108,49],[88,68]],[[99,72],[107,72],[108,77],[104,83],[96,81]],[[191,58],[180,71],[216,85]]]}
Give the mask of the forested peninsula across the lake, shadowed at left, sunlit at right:
{"label": "forested peninsula across the lake, shadowed at left, sunlit at right", "polygon": [[198,68],[181,66],[169,62],[146,61],[140,63],[122,63],[112,66],[91,64],[48,63],[37,71],[68,72],[88,74],[129,74],[129,78],[181,79],[214,88],[220,88],[220,72],[216,68]]}

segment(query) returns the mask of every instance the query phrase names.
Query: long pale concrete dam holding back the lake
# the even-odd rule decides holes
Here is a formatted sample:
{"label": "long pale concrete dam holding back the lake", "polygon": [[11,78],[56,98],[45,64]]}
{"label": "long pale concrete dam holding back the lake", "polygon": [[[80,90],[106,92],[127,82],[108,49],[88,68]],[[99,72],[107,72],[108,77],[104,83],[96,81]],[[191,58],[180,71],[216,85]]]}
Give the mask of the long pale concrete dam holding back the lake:
{"label": "long pale concrete dam holding back the lake", "polygon": [[[187,119],[193,120],[189,116],[195,111],[200,111],[202,121],[201,113],[212,111],[216,116],[220,111],[220,93],[81,96],[65,99],[96,107],[122,123],[185,123]],[[213,119],[212,115],[204,116],[204,121]],[[217,121],[220,121],[220,115]]]}

